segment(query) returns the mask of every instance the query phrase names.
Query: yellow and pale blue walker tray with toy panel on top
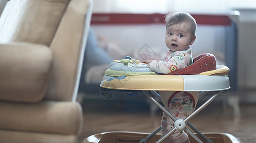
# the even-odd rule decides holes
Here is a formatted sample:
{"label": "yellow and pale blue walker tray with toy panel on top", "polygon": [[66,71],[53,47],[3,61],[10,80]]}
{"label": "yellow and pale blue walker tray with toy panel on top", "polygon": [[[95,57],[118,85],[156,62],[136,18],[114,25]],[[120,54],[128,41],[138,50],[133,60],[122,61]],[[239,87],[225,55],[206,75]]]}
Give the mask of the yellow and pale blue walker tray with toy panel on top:
{"label": "yellow and pale blue walker tray with toy panel on top", "polygon": [[136,91],[222,91],[230,89],[229,68],[216,66],[215,70],[192,75],[162,75],[151,72],[144,63],[129,59],[114,60],[100,83],[102,88]]}

